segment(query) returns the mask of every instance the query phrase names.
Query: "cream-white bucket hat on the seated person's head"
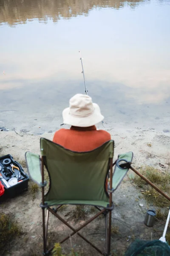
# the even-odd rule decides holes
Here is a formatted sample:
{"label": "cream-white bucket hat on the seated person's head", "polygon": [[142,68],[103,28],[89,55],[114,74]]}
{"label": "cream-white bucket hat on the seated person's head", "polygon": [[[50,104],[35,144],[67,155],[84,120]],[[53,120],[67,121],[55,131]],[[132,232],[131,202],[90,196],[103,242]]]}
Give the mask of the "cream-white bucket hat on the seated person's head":
{"label": "cream-white bucket hat on the seated person's head", "polygon": [[62,111],[63,122],[67,125],[89,127],[104,119],[100,108],[86,94],[76,94],[70,99],[70,107]]}

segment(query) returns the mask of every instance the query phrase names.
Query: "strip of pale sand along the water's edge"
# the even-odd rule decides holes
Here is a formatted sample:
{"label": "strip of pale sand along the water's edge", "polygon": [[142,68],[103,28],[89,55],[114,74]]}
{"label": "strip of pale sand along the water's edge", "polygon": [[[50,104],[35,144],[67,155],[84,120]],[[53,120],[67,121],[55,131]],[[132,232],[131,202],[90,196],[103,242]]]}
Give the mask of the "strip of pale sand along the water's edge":
{"label": "strip of pale sand along the water's edge", "polygon": [[[169,133],[165,135],[163,132],[157,132],[152,128],[147,130],[135,128],[127,131],[106,128],[105,131],[108,131],[112,140],[115,141],[115,160],[118,154],[133,151],[133,164],[136,167],[149,165],[162,169],[159,163],[164,165],[164,169],[168,169],[170,166]],[[1,131],[1,154],[11,154],[14,158],[24,160],[26,151],[40,154],[40,137],[52,140],[53,136],[54,133],[34,135],[25,132],[17,134],[15,131]]]}

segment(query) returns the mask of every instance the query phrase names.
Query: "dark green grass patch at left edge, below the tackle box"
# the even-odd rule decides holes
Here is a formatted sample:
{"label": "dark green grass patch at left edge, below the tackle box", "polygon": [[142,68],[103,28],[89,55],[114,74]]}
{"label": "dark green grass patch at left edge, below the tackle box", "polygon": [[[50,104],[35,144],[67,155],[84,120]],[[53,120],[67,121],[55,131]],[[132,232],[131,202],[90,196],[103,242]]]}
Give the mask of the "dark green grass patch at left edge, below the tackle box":
{"label": "dark green grass patch at left edge, below the tackle box", "polygon": [[20,234],[20,227],[14,218],[5,213],[0,214],[0,252],[8,247],[8,244]]}

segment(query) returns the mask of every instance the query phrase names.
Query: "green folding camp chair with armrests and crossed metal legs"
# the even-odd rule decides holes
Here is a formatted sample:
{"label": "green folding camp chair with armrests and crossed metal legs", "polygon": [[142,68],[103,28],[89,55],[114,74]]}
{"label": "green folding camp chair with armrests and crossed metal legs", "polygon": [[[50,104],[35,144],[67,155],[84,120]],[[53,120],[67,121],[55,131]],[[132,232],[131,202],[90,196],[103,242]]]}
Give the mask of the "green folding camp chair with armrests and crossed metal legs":
{"label": "green folding camp chair with armrests and crossed metal legs", "polygon": [[[112,193],[125,177],[133,153],[119,155],[112,170],[114,142],[110,140],[99,148],[88,152],[74,152],[63,148],[44,138],[40,139],[41,158],[38,154],[26,152],[28,173],[34,182],[42,188],[42,226],[43,226],[43,255],[48,255],[54,247],[47,250],[47,233],[49,212],[67,225],[73,232],[59,243],[77,234],[102,255],[108,256],[111,250],[111,212],[113,210]],[[122,162],[123,161],[123,162]],[[48,171],[50,186],[45,195],[44,166]],[[110,170],[110,172],[109,172]],[[109,175],[109,186],[106,191],[105,183]],[[113,178],[112,178],[113,177]],[[52,206],[61,207],[65,204],[90,205],[99,209],[93,218],[79,228],[71,227]],[[45,224],[45,208],[46,224]],[[98,247],[79,233],[83,227],[99,215],[105,214],[106,251]]]}

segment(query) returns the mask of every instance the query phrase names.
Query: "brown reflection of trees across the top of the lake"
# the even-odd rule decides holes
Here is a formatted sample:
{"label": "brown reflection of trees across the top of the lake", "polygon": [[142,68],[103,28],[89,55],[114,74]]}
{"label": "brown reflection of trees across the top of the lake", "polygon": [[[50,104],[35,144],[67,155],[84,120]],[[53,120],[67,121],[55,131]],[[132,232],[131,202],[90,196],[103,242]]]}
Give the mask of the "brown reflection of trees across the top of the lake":
{"label": "brown reflection of trees across the top of the lake", "polygon": [[38,19],[47,22],[51,18],[57,22],[60,17],[71,18],[77,15],[88,15],[96,7],[111,7],[114,9],[129,5],[134,8],[143,0],[1,0],[0,21],[13,26],[26,23],[27,20]]}

